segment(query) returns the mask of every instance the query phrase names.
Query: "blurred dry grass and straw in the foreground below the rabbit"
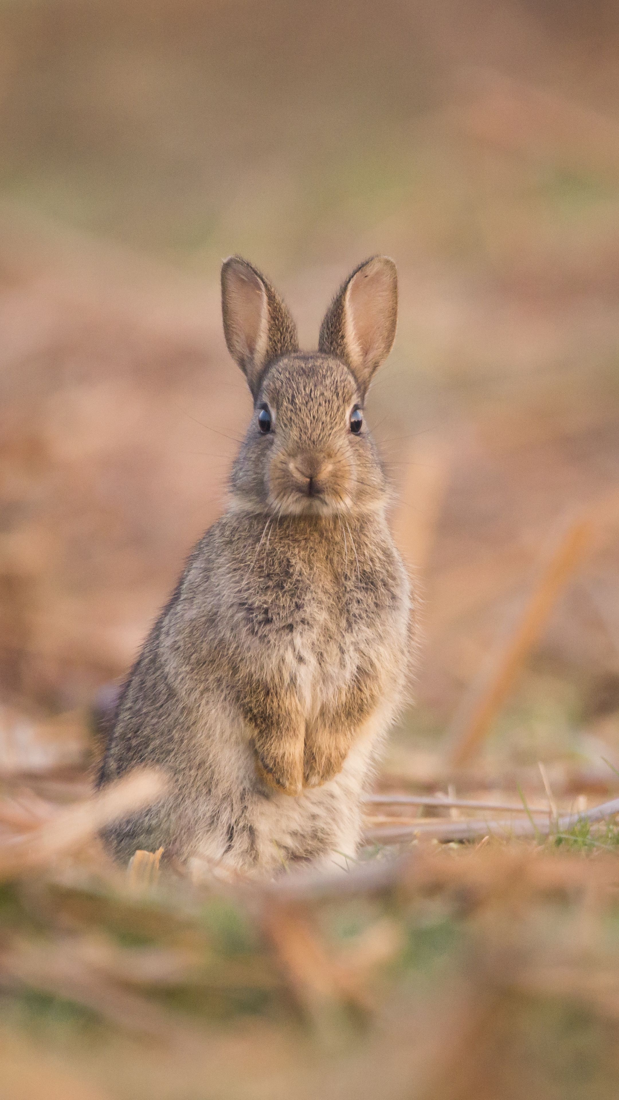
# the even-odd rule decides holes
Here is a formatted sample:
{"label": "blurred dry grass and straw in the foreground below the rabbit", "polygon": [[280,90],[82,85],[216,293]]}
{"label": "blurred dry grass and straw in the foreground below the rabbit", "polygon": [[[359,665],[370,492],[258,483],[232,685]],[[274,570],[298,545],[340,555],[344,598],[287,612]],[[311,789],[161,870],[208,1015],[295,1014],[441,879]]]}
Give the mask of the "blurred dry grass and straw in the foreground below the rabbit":
{"label": "blurred dry grass and straw in the foreground below the rabbit", "polygon": [[[417,844],[263,886],[153,883],[87,849],[15,867],[1,899],[10,1094],[34,1094],[36,1067],[61,1059],[84,1096],[465,1098],[481,1067],[495,1096],[525,1096],[493,1052],[512,1028],[522,1072],[531,1018],[567,1060],[569,1020],[587,1021],[604,1085],[619,1013],[607,847]],[[552,1058],[537,1069],[550,1080]]]}

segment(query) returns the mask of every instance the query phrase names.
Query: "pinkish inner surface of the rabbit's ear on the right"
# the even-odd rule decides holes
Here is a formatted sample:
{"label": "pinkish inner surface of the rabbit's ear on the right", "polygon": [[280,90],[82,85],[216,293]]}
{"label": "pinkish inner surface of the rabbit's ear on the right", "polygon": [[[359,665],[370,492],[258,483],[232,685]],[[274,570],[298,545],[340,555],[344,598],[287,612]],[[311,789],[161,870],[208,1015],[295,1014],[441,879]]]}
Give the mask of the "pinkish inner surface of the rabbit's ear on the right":
{"label": "pinkish inner surface of the rabbit's ear on the right", "polygon": [[348,339],[358,365],[378,363],[391,350],[398,310],[395,265],[382,258],[357,272],[347,293]]}

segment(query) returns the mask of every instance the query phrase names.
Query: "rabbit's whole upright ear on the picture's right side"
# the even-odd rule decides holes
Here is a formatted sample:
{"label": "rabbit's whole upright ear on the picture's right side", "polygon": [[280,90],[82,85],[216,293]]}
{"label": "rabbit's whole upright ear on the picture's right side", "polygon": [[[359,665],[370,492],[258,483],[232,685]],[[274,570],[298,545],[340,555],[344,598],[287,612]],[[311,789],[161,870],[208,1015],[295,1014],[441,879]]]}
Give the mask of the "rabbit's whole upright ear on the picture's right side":
{"label": "rabbit's whole upright ear on the picture's right side", "polygon": [[340,287],[321,327],[318,350],[343,359],[365,396],[391,351],[398,323],[398,272],[388,256],[360,264]]}

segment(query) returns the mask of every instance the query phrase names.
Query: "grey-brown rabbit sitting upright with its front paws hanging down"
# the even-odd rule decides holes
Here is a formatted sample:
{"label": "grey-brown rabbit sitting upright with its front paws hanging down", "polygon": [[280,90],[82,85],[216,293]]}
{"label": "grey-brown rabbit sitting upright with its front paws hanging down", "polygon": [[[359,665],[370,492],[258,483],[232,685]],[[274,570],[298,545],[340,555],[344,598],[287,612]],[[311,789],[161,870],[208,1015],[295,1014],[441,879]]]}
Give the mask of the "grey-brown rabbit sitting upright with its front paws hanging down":
{"label": "grey-brown rabbit sitting upright with its front paws hanging down", "polygon": [[395,264],[340,287],[317,352],[240,256],[221,270],[224,332],[254,410],[225,514],[192,551],[121,691],[99,787],[159,766],[165,796],[109,826],[127,861],[164,848],[230,872],[341,866],[405,692],[408,573],[363,405],[397,324]]}

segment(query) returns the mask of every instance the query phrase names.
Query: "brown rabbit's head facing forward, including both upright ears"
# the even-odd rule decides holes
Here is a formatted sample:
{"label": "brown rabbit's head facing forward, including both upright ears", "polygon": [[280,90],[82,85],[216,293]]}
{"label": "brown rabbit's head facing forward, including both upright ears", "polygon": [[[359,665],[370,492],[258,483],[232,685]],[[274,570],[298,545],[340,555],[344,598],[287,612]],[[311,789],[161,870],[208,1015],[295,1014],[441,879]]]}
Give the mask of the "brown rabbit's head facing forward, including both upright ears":
{"label": "brown rabbit's head facing forward, including both upright ears", "polygon": [[224,331],[254,411],[231,475],[234,505],[278,515],[362,512],[387,484],[363,418],[372,375],[391,350],[395,264],[374,256],[348,277],[300,352],[296,327],[267,279],[239,256],[221,268]]}

